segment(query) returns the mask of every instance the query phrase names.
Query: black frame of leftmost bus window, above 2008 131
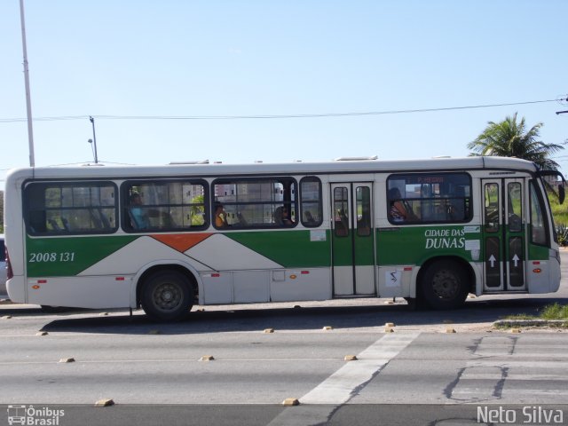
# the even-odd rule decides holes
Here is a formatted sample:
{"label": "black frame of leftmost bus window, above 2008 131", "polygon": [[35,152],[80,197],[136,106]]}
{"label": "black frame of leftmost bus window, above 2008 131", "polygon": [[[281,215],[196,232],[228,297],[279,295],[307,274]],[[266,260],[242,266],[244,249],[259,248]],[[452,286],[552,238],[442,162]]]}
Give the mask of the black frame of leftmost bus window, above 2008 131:
{"label": "black frame of leftmost bus window, above 2008 131", "polygon": [[[111,227],[103,227],[103,228],[94,228],[92,230],[77,230],[77,231],[69,231],[67,229],[65,229],[65,224],[63,225],[63,229],[59,229],[59,230],[47,230],[47,225],[46,225],[46,231],[45,232],[38,232],[36,231],[33,226],[30,223],[30,205],[29,205],[29,201],[30,201],[30,197],[28,196],[28,191],[29,188],[35,185],[39,185],[41,187],[43,187],[43,197],[45,197],[45,190],[49,187],[70,187],[70,188],[74,188],[74,187],[79,187],[79,188],[86,188],[86,187],[109,187],[112,186],[113,190],[114,190],[114,206],[99,206],[96,207],[97,209],[113,209],[114,210],[114,226]],[[50,186],[51,185],[51,186]],[[118,185],[116,185],[116,183],[114,183],[114,181],[112,180],[75,180],[75,179],[69,179],[69,180],[30,180],[27,182],[24,182],[22,184],[22,189],[21,189],[21,193],[22,193],[22,203],[23,203],[23,222],[24,222],[24,226],[26,229],[26,233],[29,236],[33,236],[33,237],[54,237],[54,236],[69,236],[69,235],[109,235],[112,233],[116,233],[116,231],[118,231],[120,225],[119,225],[119,188]],[[66,207],[66,208],[59,208],[59,210],[80,210],[80,209],[88,209],[88,207],[93,207],[93,206],[80,206],[80,207]],[[45,213],[48,209],[46,209],[45,206],[45,198],[43,198],[43,212]],[[51,210],[56,210],[55,208],[51,209]],[[47,218],[44,219],[45,222],[47,222]]]}

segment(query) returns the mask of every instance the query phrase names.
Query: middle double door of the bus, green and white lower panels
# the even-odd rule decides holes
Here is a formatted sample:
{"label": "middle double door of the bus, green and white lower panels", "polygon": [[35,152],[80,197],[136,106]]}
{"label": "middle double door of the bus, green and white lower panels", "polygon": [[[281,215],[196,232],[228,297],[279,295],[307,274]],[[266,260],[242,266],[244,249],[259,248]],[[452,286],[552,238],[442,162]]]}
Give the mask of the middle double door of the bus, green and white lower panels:
{"label": "middle double door of the bus, green and white lower panels", "polygon": [[332,184],[331,202],[334,296],[375,295],[373,184]]}

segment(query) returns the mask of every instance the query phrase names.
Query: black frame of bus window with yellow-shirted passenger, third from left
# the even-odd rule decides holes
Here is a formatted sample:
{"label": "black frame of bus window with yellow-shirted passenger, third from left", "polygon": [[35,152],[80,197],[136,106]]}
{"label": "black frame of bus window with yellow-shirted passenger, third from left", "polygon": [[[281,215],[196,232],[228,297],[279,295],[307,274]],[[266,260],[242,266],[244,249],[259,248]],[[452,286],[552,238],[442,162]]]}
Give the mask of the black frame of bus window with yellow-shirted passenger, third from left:
{"label": "black frame of bus window with yellow-shirted passenger, third from left", "polygon": [[[284,184],[285,182],[289,182],[291,183],[291,188],[294,190],[294,201],[246,201],[246,202],[231,202],[231,201],[218,201],[217,197],[215,195],[215,185],[239,185],[240,183],[246,183],[246,182],[262,182],[262,181],[266,181],[267,183],[280,183],[280,184]],[[221,203],[224,207],[225,206],[238,206],[238,205],[273,205],[273,206],[277,206],[278,204],[281,205],[289,205],[291,207],[294,208],[294,210],[296,211],[296,221],[294,221],[294,223],[292,225],[277,225],[277,224],[266,224],[266,225],[229,225],[229,226],[217,226],[215,224],[215,217],[211,218],[211,225],[219,230],[219,231],[242,231],[242,230],[248,230],[248,229],[292,229],[292,228],[296,228],[296,226],[300,223],[300,221],[298,220],[298,216],[300,215],[300,210],[299,210],[299,206],[298,206],[298,192],[299,192],[299,186],[298,186],[298,182],[296,180],[296,178],[292,177],[292,176],[265,176],[265,175],[259,175],[256,177],[239,177],[239,176],[235,176],[235,177],[217,177],[216,179],[214,179],[211,182],[211,186],[210,186],[210,193],[211,193],[211,197],[210,197],[210,202],[209,202],[209,207],[210,207],[210,211],[211,211],[211,216],[215,215],[215,208],[217,203]],[[247,217],[245,217],[245,220],[247,219]],[[290,217],[291,219],[291,217]]]}

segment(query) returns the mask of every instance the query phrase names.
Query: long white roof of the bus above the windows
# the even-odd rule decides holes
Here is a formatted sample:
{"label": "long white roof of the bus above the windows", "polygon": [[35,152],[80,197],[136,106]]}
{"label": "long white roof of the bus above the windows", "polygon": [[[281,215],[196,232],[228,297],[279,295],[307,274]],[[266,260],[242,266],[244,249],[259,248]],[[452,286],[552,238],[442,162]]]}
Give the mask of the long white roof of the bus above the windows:
{"label": "long white roof of the bus above the windows", "polygon": [[335,173],[387,173],[426,170],[517,170],[535,172],[533,162],[509,157],[472,156],[422,160],[356,160],[333,162],[255,162],[249,164],[192,163],[153,166],[57,166],[11,170],[6,180],[57,178],[216,177],[243,175],[319,175]]}

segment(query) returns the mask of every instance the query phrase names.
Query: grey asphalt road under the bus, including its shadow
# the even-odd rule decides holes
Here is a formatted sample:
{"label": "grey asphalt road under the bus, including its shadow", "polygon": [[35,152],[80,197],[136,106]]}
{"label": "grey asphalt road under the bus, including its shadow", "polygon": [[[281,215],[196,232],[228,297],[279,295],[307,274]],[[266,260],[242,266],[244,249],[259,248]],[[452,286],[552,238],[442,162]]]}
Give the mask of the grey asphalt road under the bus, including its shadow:
{"label": "grey asphalt road under the bus, including its shadow", "polygon": [[[566,281],[554,295],[480,297],[454,312],[385,302],[205,307],[177,324],[0,305],[0,424],[18,406],[40,420],[63,410],[63,426],[499,424],[479,410],[500,406],[517,424],[544,424],[526,415],[546,410],[565,422],[568,333],[491,323],[568,303]],[[92,407],[107,398],[115,405]],[[282,406],[287,398],[300,405]]]}

